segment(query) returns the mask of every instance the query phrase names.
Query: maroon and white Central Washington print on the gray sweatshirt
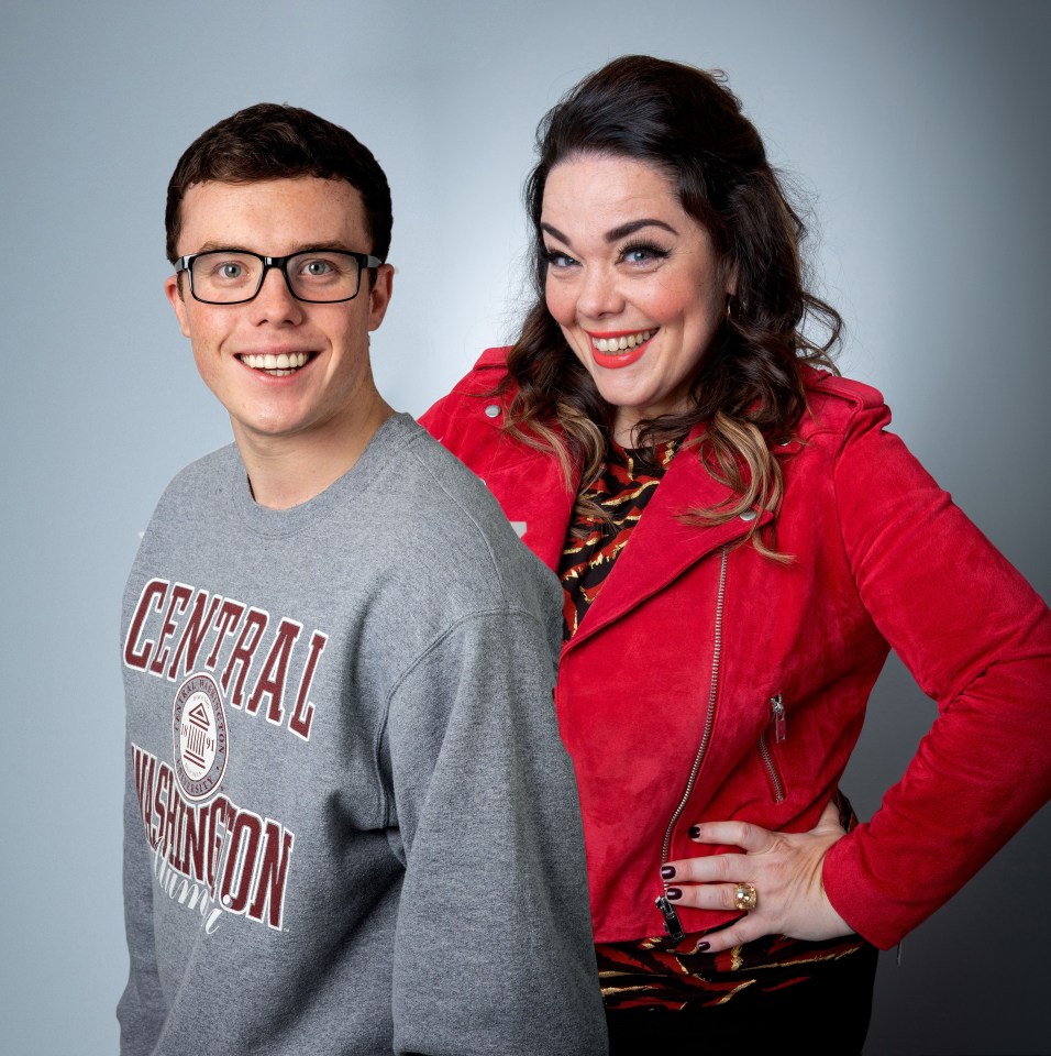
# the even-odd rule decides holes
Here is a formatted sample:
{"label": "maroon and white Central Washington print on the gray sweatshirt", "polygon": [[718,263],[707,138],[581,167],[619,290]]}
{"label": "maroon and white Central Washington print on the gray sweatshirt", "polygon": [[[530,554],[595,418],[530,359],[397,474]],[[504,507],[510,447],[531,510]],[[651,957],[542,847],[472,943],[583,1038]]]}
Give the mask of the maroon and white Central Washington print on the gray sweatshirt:
{"label": "maroon and white Central Washington print on the gray sweatshirt", "polygon": [[230,915],[283,930],[296,837],[223,788],[235,767],[252,766],[231,755],[230,721],[241,713],[237,722],[265,719],[309,741],[328,640],[287,616],[162,579],[143,586],[132,612],[124,666],[173,684],[172,763],[130,745],[154,878],[207,934]]}

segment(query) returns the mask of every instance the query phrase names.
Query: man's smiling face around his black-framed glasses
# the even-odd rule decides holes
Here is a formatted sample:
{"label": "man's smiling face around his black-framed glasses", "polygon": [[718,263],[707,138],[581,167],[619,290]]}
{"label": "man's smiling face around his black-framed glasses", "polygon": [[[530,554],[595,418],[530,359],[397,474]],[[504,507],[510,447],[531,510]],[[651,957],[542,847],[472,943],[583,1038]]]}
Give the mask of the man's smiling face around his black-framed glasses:
{"label": "man's smiling face around his black-framed glasses", "polygon": [[[307,249],[368,253],[372,242],[361,194],[345,180],[196,184],[182,199],[178,253],[226,249],[264,256]],[[353,436],[379,399],[368,333],[387,310],[391,274],[385,264],[370,286],[363,273],[357,297],[330,305],[296,300],[278,268],[243,305],[204,305],[190,294],[188,276],[181,294],[176,277],[167,279],[197,369],[229,411],[239,444],[272,451],[280,438],[340,443]],[[276,360],[266,369],[261,358],[267,355],[288,359],[283,369],[274,369]]]}

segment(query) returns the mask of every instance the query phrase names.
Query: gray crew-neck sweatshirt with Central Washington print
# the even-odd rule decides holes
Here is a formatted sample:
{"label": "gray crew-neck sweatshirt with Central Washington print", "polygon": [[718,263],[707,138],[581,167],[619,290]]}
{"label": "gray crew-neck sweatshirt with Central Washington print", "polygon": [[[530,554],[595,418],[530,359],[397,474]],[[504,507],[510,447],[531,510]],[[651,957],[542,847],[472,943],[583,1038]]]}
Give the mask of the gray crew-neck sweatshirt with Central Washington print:
{"label": "gray crew-neck sweatshirt with Central Washington print", "polygon": [[600,1054],[561,591],[410,418],[184,470],[124,596],[132,1054]]}

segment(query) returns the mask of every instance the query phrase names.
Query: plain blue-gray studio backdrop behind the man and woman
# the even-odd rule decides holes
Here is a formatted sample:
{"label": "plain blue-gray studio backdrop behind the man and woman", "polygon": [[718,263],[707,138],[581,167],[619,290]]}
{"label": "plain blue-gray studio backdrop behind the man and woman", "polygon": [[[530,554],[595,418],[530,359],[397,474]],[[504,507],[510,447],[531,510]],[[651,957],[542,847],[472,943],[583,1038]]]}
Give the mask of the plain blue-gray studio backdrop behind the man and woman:
{"label": "plain blue-gray studio backdrop behind the man and woman", "polygon": [[[398,267],[374,362],[419,414],[513,326],[543,111],[626,52],[722,67],[812,200],[844,371],[887,394],[898,431],[1047,596],[1049,10],[5,4],[0,1048],[117,1048],[120,595],[165,483],[229,437],[162,294],[164,188],[193,136],[266,99],[373,147]],[[863,813],[932,713],[892,662],[847,781]],[[884,956],[869,1053],[1051,1050],[1049,827],[1046,812],[899,965]]]}

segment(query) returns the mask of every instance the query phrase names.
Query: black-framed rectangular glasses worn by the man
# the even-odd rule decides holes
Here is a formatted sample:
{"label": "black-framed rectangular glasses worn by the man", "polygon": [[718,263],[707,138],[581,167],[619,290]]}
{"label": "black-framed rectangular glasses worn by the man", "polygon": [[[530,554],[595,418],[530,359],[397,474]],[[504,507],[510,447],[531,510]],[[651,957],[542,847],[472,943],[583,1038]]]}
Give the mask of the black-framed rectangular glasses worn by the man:
{"label": "black-framed rectangular glasses worn by the man", "polygon": [[290,256],[262,256],[247,250],[209,250],[175,262],[176,272],[190,276],[190,293],[206,305],[243,305],[263,288],[266,273],[276,267],[289,293],[311,305],[353,300],[362,288],[362,268],[383,261],[350,250],[301,250]]}

